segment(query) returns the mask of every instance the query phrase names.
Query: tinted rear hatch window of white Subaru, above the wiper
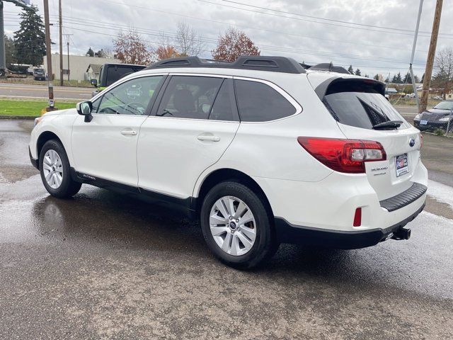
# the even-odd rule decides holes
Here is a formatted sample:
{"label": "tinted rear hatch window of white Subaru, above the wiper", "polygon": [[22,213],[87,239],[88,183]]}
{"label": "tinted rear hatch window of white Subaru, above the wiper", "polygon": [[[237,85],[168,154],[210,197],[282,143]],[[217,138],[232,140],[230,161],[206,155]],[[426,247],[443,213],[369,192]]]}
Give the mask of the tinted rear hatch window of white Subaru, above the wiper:
{"label": "tinted rear hatch window of white Subaru, above the wiper", "polygon": [[379,84],[341,81],[329,86],[323,103],[338,123],[372,129],[374,125],[401,120],[400,129],[409,128],[403,117],[379,92]]}

